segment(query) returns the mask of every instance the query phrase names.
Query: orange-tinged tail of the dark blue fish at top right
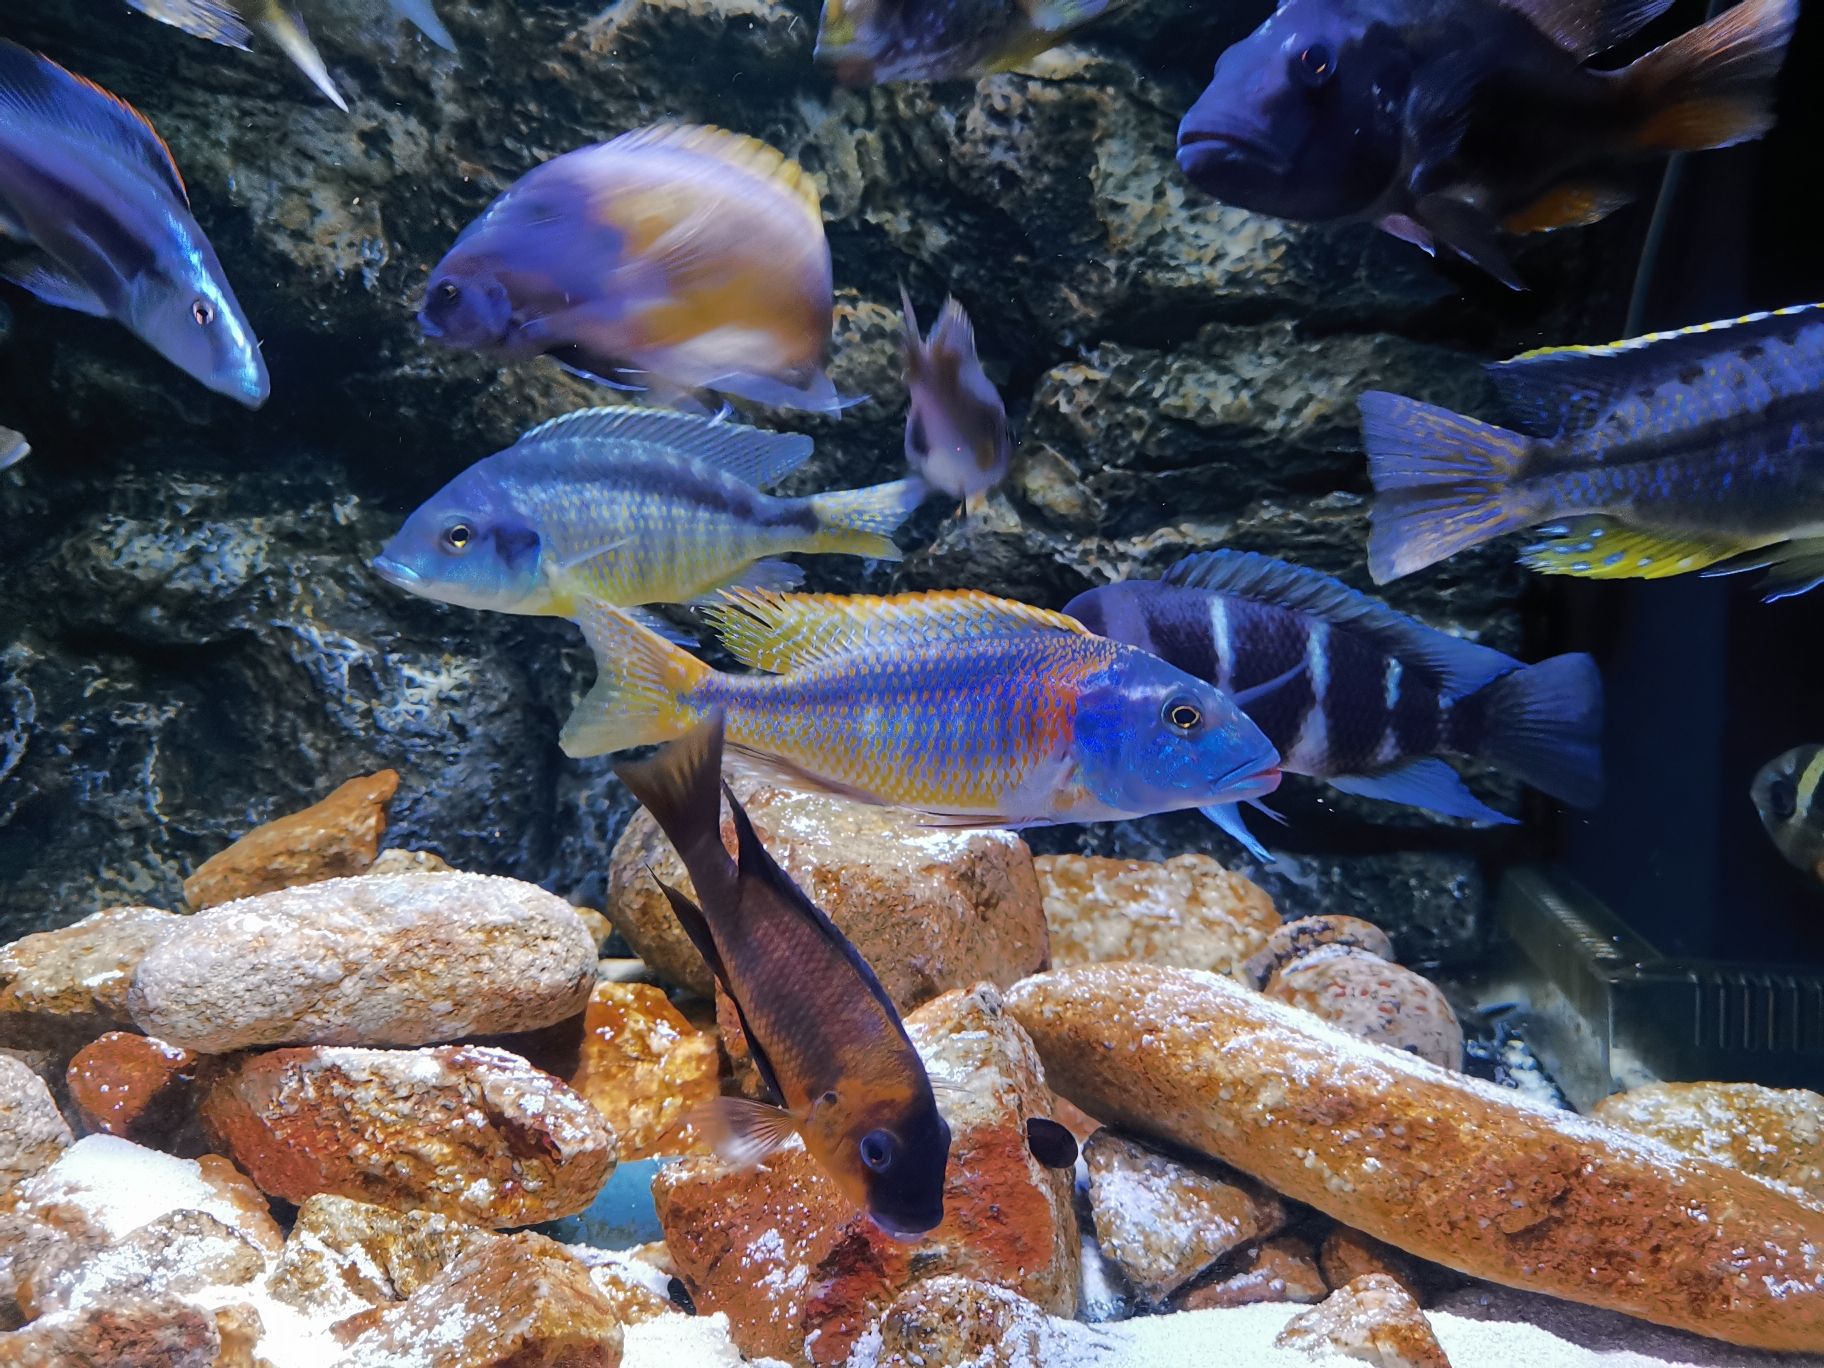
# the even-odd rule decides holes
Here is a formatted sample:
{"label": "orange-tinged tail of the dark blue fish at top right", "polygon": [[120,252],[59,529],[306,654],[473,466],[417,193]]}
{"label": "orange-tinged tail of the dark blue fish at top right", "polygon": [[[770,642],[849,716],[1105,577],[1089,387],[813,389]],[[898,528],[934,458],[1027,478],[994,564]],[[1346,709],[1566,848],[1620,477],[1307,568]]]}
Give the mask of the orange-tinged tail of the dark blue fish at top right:
{"label": "orange-tinged tail of the dark blue fish at top right", "polygon": [[1627,67],[1622,80],[1642,111],[1634,144],[1702,151],[1764,135],[1797,22],[1798,0],[1742,0]]}

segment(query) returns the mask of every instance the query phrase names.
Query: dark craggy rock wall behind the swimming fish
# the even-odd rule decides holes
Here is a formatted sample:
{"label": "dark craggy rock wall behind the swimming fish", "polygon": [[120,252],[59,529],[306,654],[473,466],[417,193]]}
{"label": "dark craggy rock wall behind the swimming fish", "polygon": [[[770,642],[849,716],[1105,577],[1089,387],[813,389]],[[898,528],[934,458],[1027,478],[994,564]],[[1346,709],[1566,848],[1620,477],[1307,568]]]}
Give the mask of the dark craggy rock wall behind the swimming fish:
{"label": "dark craggy rock wall behind the swimming fish", "polygon": [[[556,748],[591,675],[575,629],[409,598],[367,569],[456,471],[613,401],[418,337],[430,263],[538,161],[684,119],[821,177],[832,370],[876,401],[804,423],[817,456],[795,491],[899,471],[897,283],[927,312],[954,290],[1021,436],[1014,474],[985,525],[927,509],[903,565],[823,558],[812,584],[1047,606],[1211,545],[1366,586],[1355,394],[1474,405],[1479,359],[1612,328],[1638,226],[1534,246],[1536,290],[1508,295],[1364,228],[1209,204],[1173,130],[1264,0],[1142,0],[1031,71],[859,93],[812,62],[812,0],[440,0],[456,57],[383,9],[306,7],[350,115],[270,47],[212,47],[111,0],[0,11],[0,33],[168,137],[274,378],[248,414],[115,325],[5,292],[0,421],[36,451],[0,474],[0,939],[108,903],[177,907],[182,874],[233,835],[383,766],[401,773],[394,843],[600,899],[629,799],[604,761]],[[1519,587],[1492,551],[1388,596],[1518,651]],[[1359,912],[1417,961],[1474,952],[1490,868],[1538,839],[1301,781],[1277,806],[1286,854],[1262,881],[1284,912]],[[1197,817],[1036,845],[1240,859]]]}

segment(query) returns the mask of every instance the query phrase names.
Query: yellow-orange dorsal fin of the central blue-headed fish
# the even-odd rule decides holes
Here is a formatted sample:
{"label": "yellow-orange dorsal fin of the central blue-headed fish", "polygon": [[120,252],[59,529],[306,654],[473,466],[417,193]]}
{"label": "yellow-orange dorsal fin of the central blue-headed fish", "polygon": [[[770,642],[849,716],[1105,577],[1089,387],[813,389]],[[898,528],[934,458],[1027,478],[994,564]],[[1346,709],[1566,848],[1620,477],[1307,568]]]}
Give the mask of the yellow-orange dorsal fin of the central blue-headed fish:
{"label": "yellow-orange dorsal fin of the central blue-headed fish", "polygon": [[1087,637],[1076,618],[978,589],[907,595],[766,595],[730,591],[704,615],[746,666],[784,673],[892,640],[959,642],[1010,631]]}

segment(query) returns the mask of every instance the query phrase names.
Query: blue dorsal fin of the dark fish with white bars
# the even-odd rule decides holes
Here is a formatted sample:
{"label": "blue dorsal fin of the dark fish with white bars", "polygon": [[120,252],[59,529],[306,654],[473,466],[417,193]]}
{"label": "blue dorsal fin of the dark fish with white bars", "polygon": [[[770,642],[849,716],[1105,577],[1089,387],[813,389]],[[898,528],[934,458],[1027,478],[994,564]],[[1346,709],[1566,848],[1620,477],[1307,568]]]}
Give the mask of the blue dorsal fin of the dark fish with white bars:
{"label": "blue dorsal fin of the dark fish with white bars", "polygon": [[1406,669],[1430,675],[1450,695],[1472,693],[1496,675],[1519,668],[1518,660],[1490,646],[1426,627],[1341,580],[1253,551],[1186,556],[1166,571],[1162,582],[1282,607],[1366,637]]}

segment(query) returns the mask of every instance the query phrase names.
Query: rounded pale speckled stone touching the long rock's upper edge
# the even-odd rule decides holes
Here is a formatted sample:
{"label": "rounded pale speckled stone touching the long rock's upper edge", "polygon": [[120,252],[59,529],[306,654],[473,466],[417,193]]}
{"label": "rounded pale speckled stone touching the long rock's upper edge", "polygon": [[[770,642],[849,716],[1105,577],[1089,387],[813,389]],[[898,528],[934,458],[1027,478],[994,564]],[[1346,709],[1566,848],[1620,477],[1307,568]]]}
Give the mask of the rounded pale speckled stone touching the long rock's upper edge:
{"label": "rounded pale speckled stone touching the long rock's upper edge", "polygon": [[1348,945],[1324,945],[1280,967],[1264,989],[1352,1036],[1463,1067],[1463,1027],[1450,1000],[1423,974]]}

